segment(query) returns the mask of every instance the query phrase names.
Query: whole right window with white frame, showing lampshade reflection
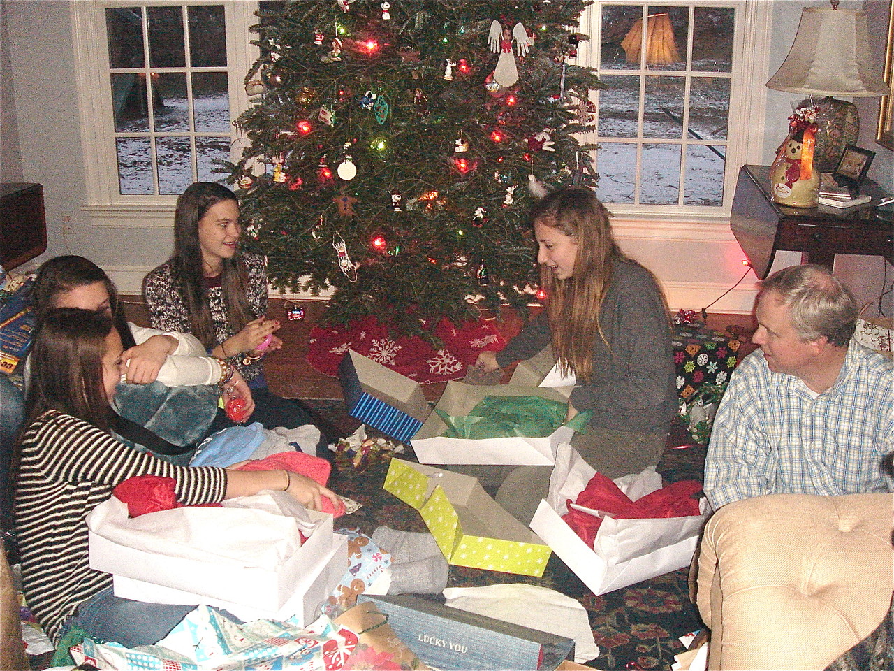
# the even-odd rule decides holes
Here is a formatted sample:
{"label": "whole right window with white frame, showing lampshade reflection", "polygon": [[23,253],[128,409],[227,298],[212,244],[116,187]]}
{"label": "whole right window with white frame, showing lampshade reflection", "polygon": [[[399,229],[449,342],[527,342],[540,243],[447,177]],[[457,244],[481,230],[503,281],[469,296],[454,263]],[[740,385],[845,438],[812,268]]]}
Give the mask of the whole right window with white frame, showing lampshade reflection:
{"label": "whole right window with white frame, showing lampshade reflection", "polygon": [[[597,2],[578,63],[595,67],[597,193],[617,213],[729,213],[738,167],[763,140],[755,113],[769,14],[755,2]],[[757,53],[757,52],[760,53]],[[757,102],[757,106],[755,106]],[[752,115],[752,123],[743,123]],[[756,124],[761,125],[761,124]]]}

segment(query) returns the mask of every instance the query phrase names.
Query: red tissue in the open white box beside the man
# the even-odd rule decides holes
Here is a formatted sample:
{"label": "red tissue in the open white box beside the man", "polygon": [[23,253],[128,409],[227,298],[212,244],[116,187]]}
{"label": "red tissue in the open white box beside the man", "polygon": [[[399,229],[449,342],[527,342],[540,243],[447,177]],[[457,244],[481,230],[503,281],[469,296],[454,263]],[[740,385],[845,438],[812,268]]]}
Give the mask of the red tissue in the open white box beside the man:
{"label": "red tissue in the open white box beside the man", "polygon": [[[645,497],[631,501],[610,478],[596,473],[578,494],[578,505],[598,510],[617,520],[642,520],[659,517],[688,517],[699,514],[698,499],[693,497],[702,490],[698,480],[680,480],[667,487],[656,489]],[[569,499],[568,504],[572,503]],[[603,518],[568,506],[568,514],[562,519],[578,534],[588,548],[595,543],[596,533]]]}

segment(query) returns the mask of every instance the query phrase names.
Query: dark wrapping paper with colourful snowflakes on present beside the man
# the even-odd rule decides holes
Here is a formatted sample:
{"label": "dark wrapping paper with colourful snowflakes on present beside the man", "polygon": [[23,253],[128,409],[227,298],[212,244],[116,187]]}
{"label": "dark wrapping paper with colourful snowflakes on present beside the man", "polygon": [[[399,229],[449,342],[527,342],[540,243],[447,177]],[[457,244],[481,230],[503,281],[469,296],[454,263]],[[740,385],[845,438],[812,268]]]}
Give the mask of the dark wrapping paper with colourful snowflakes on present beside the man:
{"label": "dark wrapping paper with colourful snowflakes on present beside the man", "polygon": [[738,339],[692,325],[675,325],[671,337],[680,399],[688,401],[704,384],[725,386],[730,380],[738,363]]}

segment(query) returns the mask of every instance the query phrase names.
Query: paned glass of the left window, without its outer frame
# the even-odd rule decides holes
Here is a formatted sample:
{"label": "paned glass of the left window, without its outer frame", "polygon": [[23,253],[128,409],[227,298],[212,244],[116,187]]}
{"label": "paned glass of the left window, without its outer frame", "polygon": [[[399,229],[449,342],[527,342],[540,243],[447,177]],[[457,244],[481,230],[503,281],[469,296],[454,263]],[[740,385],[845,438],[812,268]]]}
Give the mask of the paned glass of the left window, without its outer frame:
{"label": "paned glass of the left window, without its outer frame", "polygon": [[179,194],[230,158],[223,5],[105,10],[122,194]]}

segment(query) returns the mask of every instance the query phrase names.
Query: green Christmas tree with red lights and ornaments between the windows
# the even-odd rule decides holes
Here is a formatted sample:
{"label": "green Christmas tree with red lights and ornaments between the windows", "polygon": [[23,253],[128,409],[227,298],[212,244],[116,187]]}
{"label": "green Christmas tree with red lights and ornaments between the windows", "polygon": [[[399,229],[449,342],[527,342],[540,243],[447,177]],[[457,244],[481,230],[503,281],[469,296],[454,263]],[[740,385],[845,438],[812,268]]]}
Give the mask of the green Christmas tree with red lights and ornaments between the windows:
{"label": "green Christmas tree with red lights and ornaments between the windows", "polygon": [[259,12],[261,56],[228,166],[275,287],[328,318],[431,335],[479,307],[523,314],[533,198],[595,183],[586,2],[295,0]]}

